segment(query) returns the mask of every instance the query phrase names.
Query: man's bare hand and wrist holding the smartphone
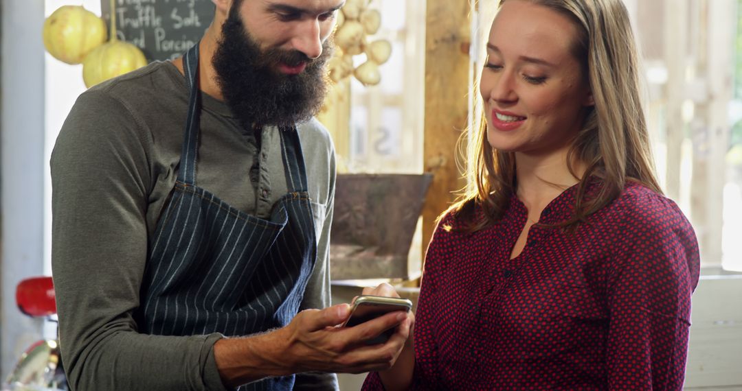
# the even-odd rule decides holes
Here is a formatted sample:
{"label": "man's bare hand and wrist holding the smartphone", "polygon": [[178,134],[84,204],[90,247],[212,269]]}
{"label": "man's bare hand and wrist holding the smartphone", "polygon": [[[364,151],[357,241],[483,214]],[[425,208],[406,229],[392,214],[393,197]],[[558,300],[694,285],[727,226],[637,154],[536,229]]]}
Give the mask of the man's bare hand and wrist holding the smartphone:
{"label": "man's bare hand and wrist holding the smartphone", "polygon": [[[363,293],[399,297],[389,284],[365,288]],[[273,332],[217,341],[214,358],[224,384],[231,387],[298,372],[362,373],[391,368],[410,336],[413,313],[396,311],[354,327],[340,327],[349,315],[348,304],[303,310],[286,327]],[[395,327],[384,344],[365,343]]]}

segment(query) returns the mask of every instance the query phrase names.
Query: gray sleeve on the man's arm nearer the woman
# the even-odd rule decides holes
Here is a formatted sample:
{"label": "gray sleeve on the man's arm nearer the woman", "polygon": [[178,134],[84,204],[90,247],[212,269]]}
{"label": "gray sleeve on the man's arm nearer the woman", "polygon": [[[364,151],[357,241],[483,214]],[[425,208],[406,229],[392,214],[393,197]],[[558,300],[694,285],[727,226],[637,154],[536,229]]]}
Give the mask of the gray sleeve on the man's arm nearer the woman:
{"label": "gray sleeve on the man's arm nearer the woman", "polygon": [[[332,227],[332,214],[335,206],[335,152],[332,148],[332,140],[327,138],[327,160],[319,167],[324,167],[321,176],[327,184],[326,204],[312,203],[312,213],[318,221],[315,227],[318,230],[317,261],[312,270],[312,277],[306,285],[304,299],[299,310],[312,308],[326,308],[332,305],[330,298],[330,273],[329,273],[329,235]],[[329,163],[329,164],[328,164]],[[320,197],[324,198],[324,197]],[[297,373],[294,390],[339,390],[338,377],[335,373],[305,372]]]}

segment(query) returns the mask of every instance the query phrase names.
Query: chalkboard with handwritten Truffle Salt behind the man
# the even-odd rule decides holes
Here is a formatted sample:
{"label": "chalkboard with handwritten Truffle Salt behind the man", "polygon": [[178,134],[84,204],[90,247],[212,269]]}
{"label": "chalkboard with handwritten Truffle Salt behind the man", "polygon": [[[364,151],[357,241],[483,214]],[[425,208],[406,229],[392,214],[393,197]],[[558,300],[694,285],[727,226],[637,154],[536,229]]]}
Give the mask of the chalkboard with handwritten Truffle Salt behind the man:
{"label": "chalkboard with handwritten Truffle Salt behind the man", "polygon": [[[211,0],[114,0],[116,36],[137,45],[148,61],[174,59],[195,44],[214,17]],[[111,25],[111,1],[101,0]]]}

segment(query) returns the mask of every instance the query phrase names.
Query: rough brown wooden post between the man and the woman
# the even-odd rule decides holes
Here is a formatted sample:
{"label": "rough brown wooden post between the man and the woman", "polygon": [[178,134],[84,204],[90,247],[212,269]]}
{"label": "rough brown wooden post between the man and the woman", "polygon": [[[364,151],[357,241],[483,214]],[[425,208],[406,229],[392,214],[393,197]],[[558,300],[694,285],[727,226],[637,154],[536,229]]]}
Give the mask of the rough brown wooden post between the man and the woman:
{"label": "rough brown wooden post between the man and the woman", "polygon": [[423,208],[423,251],[436,218],[466,184],[456,167],[456,141],[467,125],[471,10],[467,0],[427,0],[424,170],[433,184]]}

